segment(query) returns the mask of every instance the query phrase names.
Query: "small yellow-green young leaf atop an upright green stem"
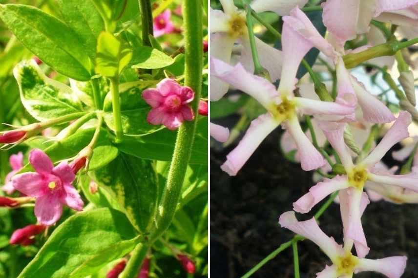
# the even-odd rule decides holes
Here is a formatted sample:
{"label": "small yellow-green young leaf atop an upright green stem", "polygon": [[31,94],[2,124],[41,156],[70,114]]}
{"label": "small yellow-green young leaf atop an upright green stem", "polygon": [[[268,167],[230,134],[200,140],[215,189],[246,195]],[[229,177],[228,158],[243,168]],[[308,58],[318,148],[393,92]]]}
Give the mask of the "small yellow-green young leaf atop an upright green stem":
{"label": "small yellow-green young leaf atop an upright green stem", "polygon": [[132,58],[129,44],[108,32],[97,40],[96,73],[105,77],[118,76]]}

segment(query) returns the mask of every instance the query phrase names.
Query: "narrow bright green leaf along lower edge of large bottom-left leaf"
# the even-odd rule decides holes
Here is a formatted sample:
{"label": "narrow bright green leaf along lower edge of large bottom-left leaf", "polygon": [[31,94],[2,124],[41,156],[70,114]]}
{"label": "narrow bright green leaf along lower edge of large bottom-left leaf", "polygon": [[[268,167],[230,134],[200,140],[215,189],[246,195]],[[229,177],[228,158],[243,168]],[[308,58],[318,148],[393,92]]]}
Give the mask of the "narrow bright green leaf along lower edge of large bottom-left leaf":
{"label": "narrow bright green leaf along lower edge of large bottom-left leaf", "polygon": [[87,259],[71,273],[69,278],[82,278],[98,272],[109,262],[128,254],[138,244],[139,238],[133,238],[113,244],[102,250],[98,255]]}

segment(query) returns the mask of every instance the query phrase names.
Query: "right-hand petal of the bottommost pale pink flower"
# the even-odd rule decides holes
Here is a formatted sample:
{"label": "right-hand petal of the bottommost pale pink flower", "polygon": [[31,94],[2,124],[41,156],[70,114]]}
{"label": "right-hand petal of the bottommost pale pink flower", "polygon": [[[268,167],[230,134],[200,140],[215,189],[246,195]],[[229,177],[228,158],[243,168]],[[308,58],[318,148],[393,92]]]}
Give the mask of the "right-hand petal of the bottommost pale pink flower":
{"label": "right-hand petal of the bottommost pale pink flower", "polygon": [[405,271],[407,259],[408,258],[406,256],[394,256],[378,259],[361,258],[355,267],[355,271],[374,271],[389,278],[400,278]]}

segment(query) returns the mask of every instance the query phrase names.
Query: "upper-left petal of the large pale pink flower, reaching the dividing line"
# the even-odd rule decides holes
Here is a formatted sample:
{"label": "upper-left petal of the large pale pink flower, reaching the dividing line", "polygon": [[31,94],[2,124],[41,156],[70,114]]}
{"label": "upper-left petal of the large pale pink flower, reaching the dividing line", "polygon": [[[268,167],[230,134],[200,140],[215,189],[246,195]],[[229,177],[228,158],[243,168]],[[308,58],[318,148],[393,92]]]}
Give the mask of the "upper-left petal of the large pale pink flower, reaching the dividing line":
{"label": "upper-left petal of the large pale pink flower, reaching the dividing line", "polygon": [[210,77],[215,76],[249,94],[267,110],[272,108],[272,104],[275,103],[275,99],[279,95],[271,82],[249,73],[241,64],[232,67],[214,58],[211,58],[210,61]]}

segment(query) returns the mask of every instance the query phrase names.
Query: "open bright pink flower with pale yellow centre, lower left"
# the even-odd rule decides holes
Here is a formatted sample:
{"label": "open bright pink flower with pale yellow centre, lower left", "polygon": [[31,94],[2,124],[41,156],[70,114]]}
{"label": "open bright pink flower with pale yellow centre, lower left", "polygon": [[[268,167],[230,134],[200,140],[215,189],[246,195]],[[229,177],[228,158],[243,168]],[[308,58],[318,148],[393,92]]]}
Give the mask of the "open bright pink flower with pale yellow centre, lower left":
{"label": "open bright pink flower with pale yellow centre, lower left", "polygon": [[53,225],[60,219],[63,205],[83,210],[83,200],[71,185],[75,175],[66,162],[54,167],[51,159],[39,149],[30,153],[29,162],[36,172],[16,175],[12,182],[16,190],[36,198],[35,215],[39,223]]}

